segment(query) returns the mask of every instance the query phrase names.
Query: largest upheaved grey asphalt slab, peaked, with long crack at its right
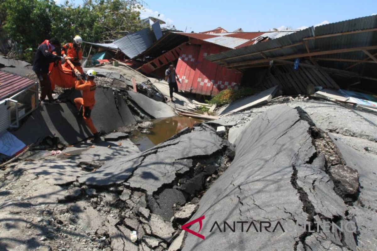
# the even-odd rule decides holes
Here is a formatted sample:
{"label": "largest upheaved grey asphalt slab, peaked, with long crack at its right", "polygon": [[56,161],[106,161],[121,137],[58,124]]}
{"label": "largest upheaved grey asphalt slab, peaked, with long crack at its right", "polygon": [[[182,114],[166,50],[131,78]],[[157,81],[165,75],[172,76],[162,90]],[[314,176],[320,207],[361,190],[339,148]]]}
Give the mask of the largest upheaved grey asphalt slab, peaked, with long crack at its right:
{"label": "largest upheaved grey asphalt slab, peaked, with long crack at its right", "polygon": [[[267,246],[269,250],[299,250],[308,246],[306,238],[310,234],[303,228],[274,234],[253,230],[245,234],[238,225],[234,233],[221,234],[216,226],[210,232],[215,221],[221,222],[220,225],[223,221],[270,221],[271,225],[279,221],[284,226],[313,221],[317,214],[331,216],[333,213],[348,221],[345,204],[334,194],[323,159],[315,158],[316,148],[309,128],[298,111],[287,105],[276,106],[254,119],[236,141],[232,164],[205,192],[198,211],[191,218],[205,215],[201,230],[205,242],[188,234],[182,250],[260,250]],[[314,180],[314,186],[320,186],[314,188],[315,191]],[[333,202],[333,197],[328,195],[335,196],[339,204],[324,208],[323,201]],[[199,224],[190,229],[198,232]],[[342,243],[342,247],[350,246]]]}

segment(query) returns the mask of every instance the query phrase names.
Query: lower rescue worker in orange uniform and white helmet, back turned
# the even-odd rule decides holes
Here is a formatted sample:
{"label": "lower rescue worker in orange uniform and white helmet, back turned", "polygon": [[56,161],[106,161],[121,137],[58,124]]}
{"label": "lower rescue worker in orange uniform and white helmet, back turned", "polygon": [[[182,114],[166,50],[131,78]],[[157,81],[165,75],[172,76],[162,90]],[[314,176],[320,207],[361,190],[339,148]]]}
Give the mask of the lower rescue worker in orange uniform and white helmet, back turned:
{"label": "lower rescue worker in orange uniform and white helmet, back turned", "polygon": [[90,118],[90,113],[93,110],[95,99],[95,89],[96,84],[94,82],[94,77],[97,73],[94,70],[88,70],[86,72],[86,81],[81,79],[81,75],[76,76],[77,81],[75,82],[76,90],[83,91],[83,97],[77,97],[74,99],[77,110],[79,110],[80,116],[84,117],[86,125],[89,127],[90,131],[94,135],[94,143],[99,143],[101,141],[100,134],[93,125],[93,121]]}

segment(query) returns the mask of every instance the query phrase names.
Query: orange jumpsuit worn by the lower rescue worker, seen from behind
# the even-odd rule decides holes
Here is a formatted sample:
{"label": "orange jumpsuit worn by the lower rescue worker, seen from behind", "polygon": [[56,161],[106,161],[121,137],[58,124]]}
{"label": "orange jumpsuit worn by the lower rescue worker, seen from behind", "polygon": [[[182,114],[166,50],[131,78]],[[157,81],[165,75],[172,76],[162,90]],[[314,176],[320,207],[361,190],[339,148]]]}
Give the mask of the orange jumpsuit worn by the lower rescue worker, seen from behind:
{"label": "orange jumpsuit worn by the lower rescue worker, seen from behind", "polygon": [[82,79],[75,82],[76,90],[83,91],[83,97],[77,97],[74,99],[77,110],[80,110],[80,106],[83,106],[83,118],[86,125],[89,127],[92,134],[97,133],[93,125],[93,121],[90,117],[85,117],[85,109],[92,110],[95,104],[94,94],[96,89],[96,84],[93,79],[83,81]]}

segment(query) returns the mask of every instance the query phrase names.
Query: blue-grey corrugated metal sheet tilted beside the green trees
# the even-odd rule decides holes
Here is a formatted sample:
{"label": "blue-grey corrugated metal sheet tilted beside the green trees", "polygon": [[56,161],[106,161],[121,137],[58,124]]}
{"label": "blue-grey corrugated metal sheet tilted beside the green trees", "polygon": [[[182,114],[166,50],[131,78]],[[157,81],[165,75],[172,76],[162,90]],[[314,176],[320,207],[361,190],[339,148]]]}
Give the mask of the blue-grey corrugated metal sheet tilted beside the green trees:
{"label": "blue-grey corrugated metal sheet tilted beside the green trees", "polygon": [[124,36],[114,41],[114,44],[118,46],[121,52],[126,56],[135,58],[152,46],[153,34],[148,27]]}

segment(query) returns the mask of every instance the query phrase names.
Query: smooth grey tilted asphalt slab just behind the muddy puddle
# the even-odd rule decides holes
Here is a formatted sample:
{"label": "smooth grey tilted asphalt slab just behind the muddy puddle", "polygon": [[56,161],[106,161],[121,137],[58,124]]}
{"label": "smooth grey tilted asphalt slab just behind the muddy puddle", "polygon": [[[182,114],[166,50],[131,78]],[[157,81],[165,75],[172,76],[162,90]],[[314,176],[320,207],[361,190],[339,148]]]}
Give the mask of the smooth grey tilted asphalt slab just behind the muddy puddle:
{"label": "smooth grey tilted asphalt slab just behind the muddy puddle", "polygon": [[129,98],[136,103],[145,113],[154,119],[176,116],[173,109],[166,103],[158,102],[141,94],[127,91]]}

